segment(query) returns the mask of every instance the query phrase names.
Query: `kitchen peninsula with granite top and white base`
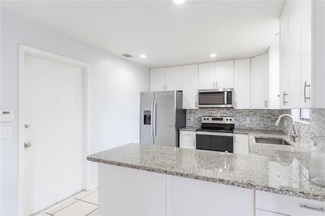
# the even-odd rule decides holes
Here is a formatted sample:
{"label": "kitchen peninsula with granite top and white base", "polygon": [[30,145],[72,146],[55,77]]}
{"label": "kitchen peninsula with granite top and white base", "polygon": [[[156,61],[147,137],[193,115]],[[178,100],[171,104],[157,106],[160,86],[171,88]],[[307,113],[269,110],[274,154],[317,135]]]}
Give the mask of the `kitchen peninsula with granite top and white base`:
{"label": "kitchen peninsula with granite top and white base", "polygon": [[324,215],[306,147],[237,132],[249,134],[249,155],[129,143],[88,156],[99,163],[99,215]]}

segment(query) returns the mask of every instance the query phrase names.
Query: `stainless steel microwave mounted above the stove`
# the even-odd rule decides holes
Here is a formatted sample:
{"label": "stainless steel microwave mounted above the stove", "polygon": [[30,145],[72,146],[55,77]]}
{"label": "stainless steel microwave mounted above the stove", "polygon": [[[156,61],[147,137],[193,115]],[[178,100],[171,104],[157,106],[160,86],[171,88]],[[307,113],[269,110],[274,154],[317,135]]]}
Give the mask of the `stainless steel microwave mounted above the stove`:
{"label": "stainless steel microwave mounted above the stove", "polygon": [[204,89],[198,92],[199,108],[233,108],[234,89]]}

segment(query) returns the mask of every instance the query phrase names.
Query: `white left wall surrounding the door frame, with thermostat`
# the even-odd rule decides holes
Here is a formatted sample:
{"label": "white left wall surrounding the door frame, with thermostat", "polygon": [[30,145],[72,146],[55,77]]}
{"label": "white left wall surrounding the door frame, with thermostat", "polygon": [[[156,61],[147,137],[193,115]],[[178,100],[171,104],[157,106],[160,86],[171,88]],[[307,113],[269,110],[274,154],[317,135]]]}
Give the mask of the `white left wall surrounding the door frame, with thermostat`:
{"label": "white left wall surrounding the door frame, with thermostat", "polygon": [[18,44],[91,64],[92,153],[140,141],[140,92],[149,91],[148,68],[1,10],[1,109],[15,113],[1,124],[13,126],[0,145],[1,215],[18,215]]}

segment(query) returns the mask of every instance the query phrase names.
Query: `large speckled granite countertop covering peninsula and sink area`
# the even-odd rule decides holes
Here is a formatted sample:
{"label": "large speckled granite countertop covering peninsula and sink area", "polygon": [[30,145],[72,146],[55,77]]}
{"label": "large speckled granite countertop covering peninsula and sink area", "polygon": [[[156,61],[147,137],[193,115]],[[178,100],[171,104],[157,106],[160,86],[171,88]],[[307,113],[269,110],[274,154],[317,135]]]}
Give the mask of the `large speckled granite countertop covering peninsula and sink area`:
{"label": "large speckled granite countertop covering peninsula and sink area", "polygon": [[325,201],[325,188],[309,182],[309,149],[255,143],[254,137],[289,136],[278,131],[237,130],[249,135],[249,155],[129,143],[87,160],[166,173],[224,185]]}

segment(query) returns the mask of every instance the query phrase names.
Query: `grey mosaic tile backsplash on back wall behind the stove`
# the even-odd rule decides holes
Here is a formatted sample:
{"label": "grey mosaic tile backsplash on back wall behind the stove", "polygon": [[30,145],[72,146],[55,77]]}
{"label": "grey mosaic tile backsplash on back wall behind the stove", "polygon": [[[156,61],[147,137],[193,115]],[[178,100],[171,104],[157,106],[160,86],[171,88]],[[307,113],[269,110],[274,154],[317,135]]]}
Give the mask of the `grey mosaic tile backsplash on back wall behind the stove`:
{"label": "grey mosaic tile backsplash on back wall behind the stove", "polygon": [[[190,127],[201,127],[202,116],[234,116],[235,128],[255,130],[281,130],[281,125],[275,126],[275,121],[289,110],[236,110],[236,109],[198,109],[187,110],[186,123]],[[190,121],[191,118],[193,121]],[[249,123],[246,123],[249,118]]]}

